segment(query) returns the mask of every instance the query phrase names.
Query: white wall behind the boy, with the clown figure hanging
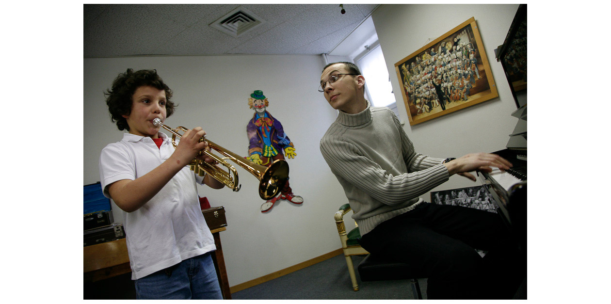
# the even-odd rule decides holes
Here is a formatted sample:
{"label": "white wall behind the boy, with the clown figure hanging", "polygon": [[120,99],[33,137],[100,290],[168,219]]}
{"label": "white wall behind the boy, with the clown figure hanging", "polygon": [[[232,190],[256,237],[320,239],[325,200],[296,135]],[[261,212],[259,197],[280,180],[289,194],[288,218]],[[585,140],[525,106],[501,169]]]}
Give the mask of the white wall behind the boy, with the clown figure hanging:
{"label": "white wall behind the boy, with the clown figure hanging", "polygon": [[[221,239],[230,286],[340,248],[333,214],[347,203],[340,184],[320,154],[318,143],[336,114],[316,90],[321,56],[200,56],[84,59],[84,184],[100,180],[101,149],[122,138],[109,118],[104,90],[126,68],[156,69],[178,103],[169,126],[202,126],[208,138],[246,156],[246,125],[254,110],[247,105],[263,90],[269,112],[282,122],[295,143],[288,159],[290,183],[304,197],[301,206],[280,201],[262,214],[257,179],[238,166],[242,188],[213,190],[198,186],[212,206],[225,206],[227,231]],[[115,221],[122,222],[119,208]]]}

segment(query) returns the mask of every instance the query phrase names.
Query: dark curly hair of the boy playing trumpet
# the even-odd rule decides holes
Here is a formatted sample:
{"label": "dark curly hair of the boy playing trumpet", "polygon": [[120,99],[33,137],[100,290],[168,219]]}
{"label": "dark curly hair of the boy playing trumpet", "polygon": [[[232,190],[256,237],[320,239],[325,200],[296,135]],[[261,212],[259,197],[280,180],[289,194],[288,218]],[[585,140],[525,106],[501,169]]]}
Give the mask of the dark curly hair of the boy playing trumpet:
{"label": "dark curly hair of the boy playing trumpet", "polygon": [[166,91],[166,117],[174,114],[174,108],[177,106],[170,98],[172,98],[172,90],[164,84],[156,70],[139,70],[135,71],[128,68],[125,73],[119,74],[112,82],[112,89],[106,90],[106,105],[111,114],[111,121],[117,122],[119,130],[126,129],[130,131],[130,126],[127,125],[125,117],[122,115],[131,114],[131,97],[136,92],[136,89],[144,85],[150,85],[159,90]]}

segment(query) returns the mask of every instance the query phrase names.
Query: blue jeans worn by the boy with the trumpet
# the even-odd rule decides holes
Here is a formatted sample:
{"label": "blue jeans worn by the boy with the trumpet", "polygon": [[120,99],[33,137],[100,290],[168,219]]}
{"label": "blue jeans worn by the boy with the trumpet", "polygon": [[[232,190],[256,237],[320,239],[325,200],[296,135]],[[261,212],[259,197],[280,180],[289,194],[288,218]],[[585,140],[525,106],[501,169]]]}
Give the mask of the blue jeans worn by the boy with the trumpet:
{"label": "blue jeans worn by the boy with the trumpet", "polygon": [[222,300],[210,252],[134,281],[136,299]]}

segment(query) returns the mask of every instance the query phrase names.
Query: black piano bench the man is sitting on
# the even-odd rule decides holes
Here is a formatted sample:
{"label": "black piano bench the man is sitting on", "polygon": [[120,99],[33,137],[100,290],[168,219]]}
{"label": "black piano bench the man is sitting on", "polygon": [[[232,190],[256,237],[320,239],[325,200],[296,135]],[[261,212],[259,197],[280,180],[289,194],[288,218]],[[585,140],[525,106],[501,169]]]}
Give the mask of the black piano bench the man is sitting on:
{"label": "black piano bench the man is sitting on", "polygon": [[361,281],[410,280],[414,299],[422,300],[419,278],[427,276],[414,266],[404,262],[386,261],[371,254],[365,256],[357,267]]}

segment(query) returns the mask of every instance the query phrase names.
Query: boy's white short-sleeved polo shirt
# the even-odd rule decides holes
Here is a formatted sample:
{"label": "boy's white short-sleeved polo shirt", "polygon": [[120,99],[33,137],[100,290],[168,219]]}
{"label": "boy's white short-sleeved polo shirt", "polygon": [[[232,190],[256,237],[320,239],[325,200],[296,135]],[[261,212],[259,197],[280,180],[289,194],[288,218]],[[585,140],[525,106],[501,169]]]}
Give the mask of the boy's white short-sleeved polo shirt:
{"label": "boy's white short-sleeved polo shirt", "polygon": [[[150,137],[129,133],[104,147],[100,181],[106,197],[111,198],[106,189],[109,184],[139,178],[174,153],[166,134],[159,132],[159,137],[163,138],[160,148]],[[123,212],[132,280],[216,250],[197,196],[196,182],[202,181],[202,176],[185,167],[144,206]]]}

